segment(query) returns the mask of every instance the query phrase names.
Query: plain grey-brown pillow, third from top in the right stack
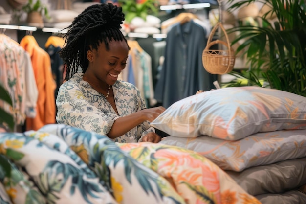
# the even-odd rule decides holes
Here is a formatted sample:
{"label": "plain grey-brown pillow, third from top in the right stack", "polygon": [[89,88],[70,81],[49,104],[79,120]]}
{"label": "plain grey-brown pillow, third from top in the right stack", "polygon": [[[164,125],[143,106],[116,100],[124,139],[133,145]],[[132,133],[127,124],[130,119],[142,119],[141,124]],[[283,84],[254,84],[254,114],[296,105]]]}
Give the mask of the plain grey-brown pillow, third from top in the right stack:
{"label": "plain grey-brown pillow, third from top in the right stack", "polygon": [[306,185],[306,157],[225,172],[251,195],[283,193]]}

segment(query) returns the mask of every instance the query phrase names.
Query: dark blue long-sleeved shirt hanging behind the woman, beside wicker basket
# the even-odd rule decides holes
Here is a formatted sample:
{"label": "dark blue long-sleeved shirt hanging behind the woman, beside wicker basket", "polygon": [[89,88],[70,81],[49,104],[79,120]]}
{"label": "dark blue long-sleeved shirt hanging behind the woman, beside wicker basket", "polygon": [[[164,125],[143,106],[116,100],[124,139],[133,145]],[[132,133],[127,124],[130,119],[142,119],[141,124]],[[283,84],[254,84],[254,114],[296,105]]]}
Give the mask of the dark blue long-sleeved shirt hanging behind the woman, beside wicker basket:
{"label": "dark blue long-sleeved shirt hanging behind the woman, beside wicker basket", "polygon": [[217,76],[208,73],[202,63],[205,36],[204,28],[193,20],[177,23],[168,32],[165,60],[154,90],[155,99],[165,108],[198,90],[214,88]]}

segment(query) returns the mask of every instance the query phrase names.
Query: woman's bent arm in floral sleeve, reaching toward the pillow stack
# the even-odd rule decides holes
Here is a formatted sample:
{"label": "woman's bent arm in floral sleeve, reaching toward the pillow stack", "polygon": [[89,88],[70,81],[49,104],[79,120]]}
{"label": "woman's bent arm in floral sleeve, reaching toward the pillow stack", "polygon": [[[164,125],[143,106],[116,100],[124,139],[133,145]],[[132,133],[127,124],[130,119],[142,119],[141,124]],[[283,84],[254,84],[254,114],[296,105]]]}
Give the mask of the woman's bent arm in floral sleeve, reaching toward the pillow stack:
{"label": "woman's bent arm in floral sleeve, reaching toward the pillow stack", "polygon": [[[83,91],[80,85],[76,83],[66,82],[60,87],[56,100],[58,107],[56,119],[58,123],[71,125],[86,131],[93,131],[114,139],[126,134],[146,120],[152,122],[165,110],[164,107],[146,109],[140,93],[136,89],[137,97],[135,100],[137,100],[139,105],[135,110],[140,111],[127,116],[118,116],[110,110],[105,109],[103,111],[93,106],[87,101]],[[92,92],[86,92],[86,95],[91,95],[91,97],[93,97],[92,94]],[[96,97],[96,100],[102,104],[101,107],[108,106],[108,102],[99,97]]]}

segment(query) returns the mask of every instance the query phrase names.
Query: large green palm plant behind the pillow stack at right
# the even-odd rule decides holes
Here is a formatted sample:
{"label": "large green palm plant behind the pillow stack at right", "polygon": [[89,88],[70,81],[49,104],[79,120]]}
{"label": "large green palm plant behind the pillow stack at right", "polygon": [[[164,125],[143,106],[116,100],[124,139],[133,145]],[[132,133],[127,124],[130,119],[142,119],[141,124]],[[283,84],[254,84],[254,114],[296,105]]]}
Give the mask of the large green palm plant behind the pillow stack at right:
{"label": "large green palm plant behind the pillow stack at right", "polygon": [[[229,11],[257,0],[229,0]],[[249,69],[230,74],[247,85],[267,86],[306,96],[306,6],[301,0],[261,0],[270,8],[256,20],[260,26],[244,25],[228,29],[236,35],[232,45],[243,41],[237,52],[244,51]],[[276,16],[271,22],[271,15]],[[265,82],[265,83],[262,83]],[[237,80],[225,84],[240,86]]]}

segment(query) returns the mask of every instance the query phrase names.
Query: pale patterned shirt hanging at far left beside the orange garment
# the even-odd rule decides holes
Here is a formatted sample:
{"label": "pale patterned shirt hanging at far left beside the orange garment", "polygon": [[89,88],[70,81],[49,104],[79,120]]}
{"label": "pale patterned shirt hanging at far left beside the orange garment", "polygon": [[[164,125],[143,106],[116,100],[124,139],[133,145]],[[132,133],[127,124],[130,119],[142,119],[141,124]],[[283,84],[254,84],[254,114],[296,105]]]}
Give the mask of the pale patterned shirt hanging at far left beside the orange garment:
{"label": "pale patterned shirt hanging at far left beside the orange garment", "polygon": [[13,107],[0,101],[0,106],[13,115],[16,125],[26,116],[36,116],[38,90],[28,53],[13,39],[0,34],[0,82],[11,96]]}

